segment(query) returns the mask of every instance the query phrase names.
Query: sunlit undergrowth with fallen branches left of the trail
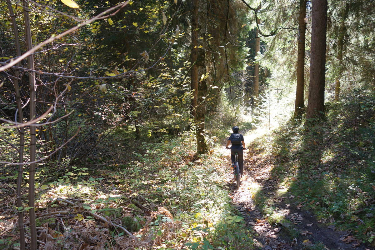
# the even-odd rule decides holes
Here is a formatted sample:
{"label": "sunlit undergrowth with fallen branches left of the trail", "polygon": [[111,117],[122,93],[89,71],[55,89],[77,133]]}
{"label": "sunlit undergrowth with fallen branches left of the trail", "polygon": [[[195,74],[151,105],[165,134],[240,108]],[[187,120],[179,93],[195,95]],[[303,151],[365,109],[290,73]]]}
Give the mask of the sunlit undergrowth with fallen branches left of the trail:
{"label": "sunlit undergrowth with fallen branches left of the trail", "polygon": [[[55,173],[40,166],[38,240],[58,249],[84,249],[86,244],[98,249],[253,249],[251,232],[225,188],[226,166],[214,151],[221,147],[220,139],[208,139],[211,151],[198,159],[194,141],[193,133],[163,136],[159,142],[144,142],[141,150],[134,147],[131,155],[127,150],[127,161],[105,157],[92,167],[66,162]],[[14,183],[15,178],[7,180]],[[2,190],[12,196],[10,187]],[[94,214],[135,237],[126,237]],[[10,233],[0,243],[4,249],[17,249],[17,241],[17,234]]]}

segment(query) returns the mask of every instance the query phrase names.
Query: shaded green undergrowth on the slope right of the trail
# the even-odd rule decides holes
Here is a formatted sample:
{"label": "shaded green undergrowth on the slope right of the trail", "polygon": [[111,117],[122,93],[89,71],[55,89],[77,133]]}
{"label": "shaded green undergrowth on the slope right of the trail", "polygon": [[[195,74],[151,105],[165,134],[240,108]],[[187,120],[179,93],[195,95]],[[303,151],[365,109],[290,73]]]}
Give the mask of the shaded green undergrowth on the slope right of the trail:
{"label": "shaded green undergrowth on the slope right of the trail", "polygon": [[[341,102],[327,103],[326,122],[305,127],[305,120],[290,121],[251,147],[273,161],[270,176],[296,196],[295,205],[374,246],[375,96]],[[272,222],[282,220],[275,219],[277,211],[263,192],[255,195],[256,203]]]}

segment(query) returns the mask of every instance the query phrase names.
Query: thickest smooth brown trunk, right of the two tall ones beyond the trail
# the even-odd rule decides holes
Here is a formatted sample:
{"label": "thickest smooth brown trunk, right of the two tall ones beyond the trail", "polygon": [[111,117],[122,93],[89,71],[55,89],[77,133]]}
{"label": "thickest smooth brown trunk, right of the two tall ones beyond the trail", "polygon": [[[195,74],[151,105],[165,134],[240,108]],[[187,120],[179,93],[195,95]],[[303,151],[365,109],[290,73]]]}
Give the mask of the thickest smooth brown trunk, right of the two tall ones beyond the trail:
{"label": "thickest smooth brown trunk, right of the two tall ones beyond the trail", "polygon": [[327,0],[312,1],[311,62],[306,118],[325,119],[324,79],[326,74]]}

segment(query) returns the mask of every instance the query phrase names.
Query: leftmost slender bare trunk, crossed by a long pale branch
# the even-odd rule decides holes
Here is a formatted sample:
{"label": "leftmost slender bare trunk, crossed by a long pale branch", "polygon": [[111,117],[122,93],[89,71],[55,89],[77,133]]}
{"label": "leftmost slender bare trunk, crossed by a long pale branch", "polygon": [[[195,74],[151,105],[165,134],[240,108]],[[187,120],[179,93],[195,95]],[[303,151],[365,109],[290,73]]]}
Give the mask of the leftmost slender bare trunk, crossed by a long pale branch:
{"label": "leftmost slender bare trunk, crossed by a long pale branch", "polygon": [[[20,46],[20,39],[18,37],[18,29],[17,29],[17,22],[16,18],[13,12],[12,4],[10,3],[10,0],[6,0],[8,9],[9,9],[9,16],[10,19],[12,19],[12,26],[13,26],[13,31],[14,31],[14,40],[15,40],[15,45],[17,49],[17,56],[21,56],[21,46]],[[17,67],[21,66],[21,62],[16,64]],[[22,101],[21,101],[21,96],[20,96],[20,88],[18,86],[18,78],[20,76],[20,70],[16,69],[15,78],[13,80],[13,85],[14,85],[14,91],[16,94],[16,99],[17,99],[17,109],[18,109],[18,118],[19,122],[23,122],[23,112],[22,112]],[[18,134],[20,135],[20,148],[19,148],[19,155],[18,155],[18,162],[23,163],[23,153],[24,153],[24,142],[25,142],[25,133],[24,133],[24,127],[20,127],[18,129]],[[21,197],[21,188],[22,188],[22,174],[23,174],[23,164],[20,164],[18,166],[18,176],[17,176],[17,207],[18,208],[23,208],[23,202],[22,202],[22,197]],[[24,229],[24,223],[23,223],[23,216],[24,212],[23,209],[21,211],[18,211],[18,228],[20,229],[20,249],[24,250],[25,249],[25,229]]]}

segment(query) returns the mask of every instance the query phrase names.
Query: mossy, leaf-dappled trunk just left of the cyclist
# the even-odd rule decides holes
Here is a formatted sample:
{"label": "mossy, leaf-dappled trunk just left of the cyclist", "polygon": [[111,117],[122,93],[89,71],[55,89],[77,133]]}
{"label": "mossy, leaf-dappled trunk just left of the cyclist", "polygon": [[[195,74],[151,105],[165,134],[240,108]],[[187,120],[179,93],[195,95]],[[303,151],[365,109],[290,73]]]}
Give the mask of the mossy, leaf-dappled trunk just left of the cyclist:
{"label": "mossy, leaf-dappled trunk just left of the cyclist", "polygon": [[204,136],[204,122],[206,112],[207,95],[207,73],[206,68],[206,30],[207,30],[207,1],[201,1],[198,5],[198,0],[194,0],[194,9],[198,6],[198,55],[196,59],[196,66],[198,69],[198,98],[196,106],[196,153],[205,154],[208,151],[207,142]]}

